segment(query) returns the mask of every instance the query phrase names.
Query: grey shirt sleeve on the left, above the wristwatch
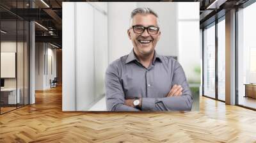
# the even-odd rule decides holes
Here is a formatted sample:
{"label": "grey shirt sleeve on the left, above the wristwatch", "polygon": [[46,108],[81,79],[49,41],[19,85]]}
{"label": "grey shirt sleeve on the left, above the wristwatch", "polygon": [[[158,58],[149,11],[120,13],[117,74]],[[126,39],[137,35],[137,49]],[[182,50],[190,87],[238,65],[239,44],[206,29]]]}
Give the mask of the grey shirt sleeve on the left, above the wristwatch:
{"label": "grey shirt sleeve on the left, above the wristwatch", "polygon": [[105,77],[106,107],[109,111],[138,111],[125,105],[124,90],[118,75],[118,66],[109,64]]}

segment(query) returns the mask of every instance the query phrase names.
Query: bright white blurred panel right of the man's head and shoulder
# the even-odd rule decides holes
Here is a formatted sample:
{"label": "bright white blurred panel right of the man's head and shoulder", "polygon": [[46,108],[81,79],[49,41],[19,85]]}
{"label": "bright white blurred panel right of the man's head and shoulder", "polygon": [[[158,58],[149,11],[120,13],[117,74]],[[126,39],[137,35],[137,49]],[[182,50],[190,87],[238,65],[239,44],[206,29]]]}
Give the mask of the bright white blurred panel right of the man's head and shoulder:
{"label": "bright white blurred panel right of the man's head and shoulder", "polygon": [[200,64],[199,2],[177,3],[178,60],[191,82],[200,82],[195,68]]}

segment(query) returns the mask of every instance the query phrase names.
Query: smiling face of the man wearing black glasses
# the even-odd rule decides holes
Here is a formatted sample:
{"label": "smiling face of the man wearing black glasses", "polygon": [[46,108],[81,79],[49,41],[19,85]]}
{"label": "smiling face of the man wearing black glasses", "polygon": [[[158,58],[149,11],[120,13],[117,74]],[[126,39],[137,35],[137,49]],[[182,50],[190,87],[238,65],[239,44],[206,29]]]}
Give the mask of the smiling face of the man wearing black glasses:
{"label": "smiling face of the man wearing black glasses", "polygon": [[[148,15],[141,15],[136,14],[132,20],[132,26],[157,26],[157,18],[155,15],[148,14]],[[149,31],[149,30],[148,30]],[[130,28],[128,30],[128,36],[132,41],[132,45],[134,46],[134,51],[137,54],[142,56],[148,56],[154,52],[156,47],[156,43],[160,38],[160,31],[157,34],[149,34],[147,29],[143,31],[141,34],[134,33],[133,29]]]}

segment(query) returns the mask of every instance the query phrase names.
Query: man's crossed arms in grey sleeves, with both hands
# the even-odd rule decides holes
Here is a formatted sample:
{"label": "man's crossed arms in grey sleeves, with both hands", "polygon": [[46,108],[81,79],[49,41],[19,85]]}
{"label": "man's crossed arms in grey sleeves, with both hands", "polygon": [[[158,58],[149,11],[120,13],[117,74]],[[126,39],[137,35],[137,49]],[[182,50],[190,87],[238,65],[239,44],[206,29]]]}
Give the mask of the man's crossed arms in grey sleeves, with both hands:
{"label": "man's crossed arms in grey sleeves, with both hands", "polygon": [[[191,110],[193,99],[185,73],[180,65],[174,70],[172,83],[170,92],[164,98],[140,98],[141,110]],[[134,108],[134,99],[125,100],[118,69],[113,64],[109,64],[106,71],[105,85],[108,110],[139,111],[139,109]]]}

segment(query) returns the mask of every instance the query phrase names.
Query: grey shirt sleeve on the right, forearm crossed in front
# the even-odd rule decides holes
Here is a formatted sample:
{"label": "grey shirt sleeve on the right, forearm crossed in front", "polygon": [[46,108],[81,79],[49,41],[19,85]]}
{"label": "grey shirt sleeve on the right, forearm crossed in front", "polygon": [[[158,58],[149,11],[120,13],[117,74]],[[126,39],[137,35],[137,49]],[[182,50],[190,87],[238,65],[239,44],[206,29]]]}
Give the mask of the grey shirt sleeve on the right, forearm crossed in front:
{"label": "grey shirt sleeve on the right, forearm crossed in front", "polygon": [[182,86],[181,96],[142,98],[142,110],[191,110],[193,98],[182,66],[175,61],[172,85]]}

